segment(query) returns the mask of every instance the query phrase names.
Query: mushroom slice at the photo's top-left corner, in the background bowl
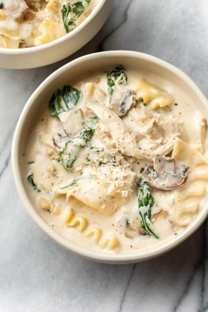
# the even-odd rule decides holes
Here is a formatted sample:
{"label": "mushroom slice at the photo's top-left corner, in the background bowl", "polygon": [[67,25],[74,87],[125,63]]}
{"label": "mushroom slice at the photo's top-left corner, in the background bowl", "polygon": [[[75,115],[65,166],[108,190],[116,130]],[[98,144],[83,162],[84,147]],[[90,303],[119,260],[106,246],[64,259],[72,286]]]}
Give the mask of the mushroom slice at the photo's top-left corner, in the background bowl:
{"label": "mushroom slice at the photo's top-left corner, in the background bowl", "polygon": [[29,10],[29,7],[24,0],[1,0],[0,5],[15,20]]}

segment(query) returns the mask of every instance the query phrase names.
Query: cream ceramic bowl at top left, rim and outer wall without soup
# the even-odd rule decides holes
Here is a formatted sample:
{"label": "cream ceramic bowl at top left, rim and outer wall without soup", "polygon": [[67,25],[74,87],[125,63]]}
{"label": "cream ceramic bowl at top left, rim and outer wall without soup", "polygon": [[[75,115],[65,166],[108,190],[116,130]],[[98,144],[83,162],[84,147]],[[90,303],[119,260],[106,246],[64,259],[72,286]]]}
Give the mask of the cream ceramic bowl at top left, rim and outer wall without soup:
{"label": "cream ceramic bowl at top left, rim and outer wall without soup", "polygon": [[41,46],[24,49],[0,48],[0,67],[35,68],[55,63],[75,53],[99,32],[114,0],[100,0],[92,13],[72,32]]}

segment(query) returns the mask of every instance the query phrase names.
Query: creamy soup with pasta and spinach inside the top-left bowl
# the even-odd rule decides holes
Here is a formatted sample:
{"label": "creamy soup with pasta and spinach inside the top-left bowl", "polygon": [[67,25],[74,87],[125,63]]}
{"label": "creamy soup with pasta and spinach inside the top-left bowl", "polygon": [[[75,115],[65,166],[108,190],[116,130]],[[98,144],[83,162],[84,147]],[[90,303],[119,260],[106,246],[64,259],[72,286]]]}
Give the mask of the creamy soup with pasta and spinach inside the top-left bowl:
{"label": "creamy soup with pasta and spinach inside the top-left bowl", "polygon": [[0,47],[40,46],[71,32],[99,0],[0,0]]}

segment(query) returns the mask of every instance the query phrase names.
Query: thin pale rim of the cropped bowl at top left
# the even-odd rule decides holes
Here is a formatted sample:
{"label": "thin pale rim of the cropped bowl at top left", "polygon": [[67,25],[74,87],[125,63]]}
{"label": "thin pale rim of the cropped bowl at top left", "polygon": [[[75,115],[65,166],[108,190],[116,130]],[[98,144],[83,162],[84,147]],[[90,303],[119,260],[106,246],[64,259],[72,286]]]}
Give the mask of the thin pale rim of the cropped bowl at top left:
{"label": "thin pale rim of the cropped bowl at top left", "polygon": [[96,7],[93,9],[93,11],[89,14],[88,17],[85,18],[83,22],[81,22],[80,25],[78,25],[73,31],[65,34],[64,36],[57,38],[53,41],[41,44],[40,46],[32,46],[29,48],[16,48],[16,49],[9,49],[9,48],[1,48],[0,47],[0,55],[22,55],[22,54],[27,54],[27,53],[32,53],[32,52],[38,52],[42,51],[44,49],[51,48],[52,46],[56,46],[64,41],[67,41],[68,39],[76,36],[77,33],[79,33],[89,22],[97,15],[97,13],[100,11],[100,9],[103,7],[104,3],[107,0],[99,0],[98,4]]}

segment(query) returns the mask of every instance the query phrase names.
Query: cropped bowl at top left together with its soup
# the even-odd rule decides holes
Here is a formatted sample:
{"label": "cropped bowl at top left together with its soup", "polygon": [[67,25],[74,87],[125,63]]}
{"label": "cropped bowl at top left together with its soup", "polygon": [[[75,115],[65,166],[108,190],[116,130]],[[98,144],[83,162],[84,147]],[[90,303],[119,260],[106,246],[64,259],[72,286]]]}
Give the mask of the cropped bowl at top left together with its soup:
{"label": "cropped bowl at top left together with its soup", "polygon": [[2,0],[0,67],[34,68],[70,56],[103,26],[113,0]]}

